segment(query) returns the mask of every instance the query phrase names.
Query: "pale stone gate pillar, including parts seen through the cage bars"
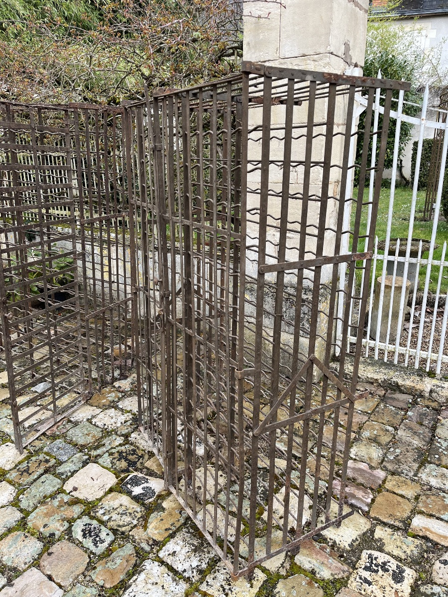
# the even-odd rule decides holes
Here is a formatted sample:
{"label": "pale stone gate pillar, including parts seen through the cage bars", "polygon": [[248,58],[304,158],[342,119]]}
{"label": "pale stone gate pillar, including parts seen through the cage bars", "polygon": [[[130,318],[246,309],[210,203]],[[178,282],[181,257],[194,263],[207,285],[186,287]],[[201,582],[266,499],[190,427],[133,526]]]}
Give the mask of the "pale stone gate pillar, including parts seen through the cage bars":
{"label": "pale stone gate pillar, including parts seen through the cage bars", "polygon": [[[364,54],[366,50],[367,33],[367,11],[369,0],[279,0],[279,1],[260,1],[244,2],[244,37],[243,37],[243,60],[261,62],[271,66],[289,67],[293,69],[317,70],[320,72],[334,72],[346,75],[362,75],[364,64]],[[341,100],[341,102],[344,100]],[[327,103],[326,100],[319,101],[316,104],[315,119],[326,119]],[[336,108],[335,113],[335,132],[345,130],[345,111],[346,106]],[[249,129],[254,125],[261,124],[262,108],[252,107],[249,111]],[[307,106],[294,107],[294,124],[304,124],[307,119]],[[272,106],[271,125],[284,125],[285,107]],[[248,160],[260,159],[261,141],[257,134],[248,142]],[[324,139],[313,143],[313,160],[323,160]],[[305,154],[305,141],[294,141],[292,146],[293,160],[303,159]],[[337,136],[333,141],[332,155],[335,162],[342,163],[343,137]],[[272,165],[269,168],[269,187],[275,191],[281,190],[283,177],[283,143],[271,141],[271,159],[275,159],[277,166]],[[332,159],[333,163],[333,159]],[[321,192],[321,172],[312,170],[310,193],[320,194]],[[330,196],[338,197],[340,170],[333,170],[330,175]],[[248,174],[248,193],[247,207],[259,205],[259,195],[251,193],[250,190],[259,187],[260,171],[254,171]],[[297,170],[297,173],[291,169],[290,196],[298,196],[303,186],[303,169]],[[332,202],[333,201],[333,202]],[[336,228],[337,206],[339,202],[336,199],[329,200],[327,212],[327,227]],[[318,210],[318,206],[310,204],[309,209]],[[302,202],[291,201],[289,207],[289,221],[299,221],[302,210]],[[280,198],[269,198],[268,214],[272,217],[280,215]],[[252,218],[253,219],[253,218]],[[318,212],[316,213],[318,220]],[[289,226],[291,229],[293,226]],[[298,224],[297,224],[298,228]],[[270,232],[270,234],[275,232]],[[248,245],[256,245],[258,238],[256,221],[247,224]],[[274,240],[274,239],[272,239]],[[315,251],[315,238],[307,239],[306,251],[311,253]],[[326,233],[326,242],[324,254],[333,253],[334,235],[331,232]],[[307,253],[311,259],[311,253]],[[251,276],[256,277],[254,270],[254,255],[248,251],[246,269]],[[297,259],[295,251],[289,251],[287,260]],[[322,279],[327,281],[331,276],[330,267],[323,268]],[[286,284],[287,284],[286,280]],[[248,285],[247,294],[254,299],[255,288]],[[311,289],[308,289],[311,290]],[[268,296],[266,293],[266,305],[274,303],[274,296]],[[272,293],[271,293],[272,294]],[[306,288],[304,289],[306,294]],[[321,296],[321,310],[328,312],[329,296]],[[254,300],[252,301],[254,302]],[[285,307],[284,307],[285,308]],[[309,317],[309,309],[302,310],[303,320]],[[290,319],[291,314],[285,313],[285,319]],[[270,327],[269,318],[265,318],[265,327]],[[326,335],[326,318],[320,318],[318,330],[322,336]],[[305,323],[306,328],[306,323]],[[292,346],[293,330],[283,328],[282,344]],[[248,333],[249,334],[249,333]],[[269,336],[269,334],[268,334]],[[305,334],[306,336],[306,334]],[[247,338],[250,342],[251,338]],[[251,343],[251,342],[250,342]],[[265,352],[269,352],[269,342],[263,346]],[[301,347],[304,355],[308,354],[308,340],[303,338]],[[319,340],[315,353],[323,358],[325,350],[324,341]],[[286,365],[289,365],[285,363]]]}

